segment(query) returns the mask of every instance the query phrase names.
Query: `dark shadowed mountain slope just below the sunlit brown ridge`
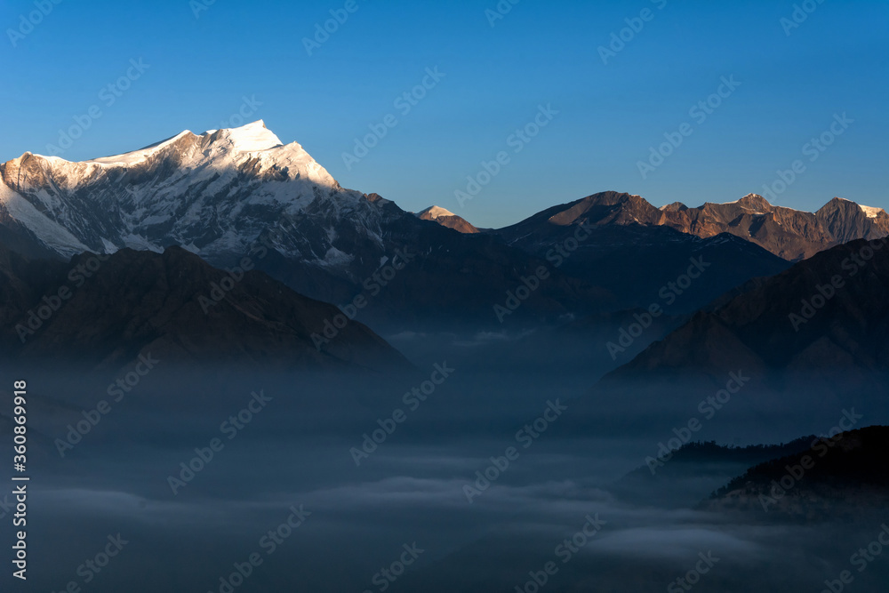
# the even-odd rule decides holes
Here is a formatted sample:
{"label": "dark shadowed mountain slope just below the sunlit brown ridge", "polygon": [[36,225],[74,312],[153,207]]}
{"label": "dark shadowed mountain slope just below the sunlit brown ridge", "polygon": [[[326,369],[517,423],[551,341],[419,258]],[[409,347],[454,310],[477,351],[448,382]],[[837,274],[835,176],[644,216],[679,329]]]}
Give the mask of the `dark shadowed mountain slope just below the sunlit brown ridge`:
{"label": "dark shadowed mountain slope just below the sunlit brown ridge", "polygon": [[[634,197],[612,194],[603,200],[620,202],[621,196]],[[627,208],[616,210],[593,200],[567,209],[556,206],[490,233],[567,274],[595,282],[625,307],[658,304],[672,312],[692,312],[750,278],[773,276],[789,267],[787,261],[727,233],[701,238],[640,224],[638,220],[659,212],[640,200],[629,199],[622,203]]]}

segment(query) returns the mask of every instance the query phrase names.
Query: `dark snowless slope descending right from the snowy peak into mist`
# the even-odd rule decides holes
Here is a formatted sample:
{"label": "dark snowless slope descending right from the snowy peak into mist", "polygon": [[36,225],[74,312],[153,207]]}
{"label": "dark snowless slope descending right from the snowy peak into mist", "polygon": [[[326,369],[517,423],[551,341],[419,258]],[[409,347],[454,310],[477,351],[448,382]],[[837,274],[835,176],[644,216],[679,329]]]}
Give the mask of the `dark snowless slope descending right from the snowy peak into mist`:
{"label": "dark snowless slope descending right from the snowy peak into mist", "polygon": [[[408,214],[388,224],[386,240],[400,247],[354,283],[331,280],[323,271],[312,274],[276,252],[269,252],[259,265],[297,292],[314,297],[323,290],[329,294],[324,301],[348,306],[364,298],[367,304],[359,309],[359,318],[392,333],[514,329],[618,307],[610,292],[594,284],[595,278],[588,282],[565,274],[494,236],[463,235]],[[395,259],[397,253],[402,255]],[[401,266],[396,270],[391,269],[394,259]],[[495,307],[506,308],[509,293],[515,294],[526,281],[536,288],[525,300],[510,301],[515,308],[498,317]]]}

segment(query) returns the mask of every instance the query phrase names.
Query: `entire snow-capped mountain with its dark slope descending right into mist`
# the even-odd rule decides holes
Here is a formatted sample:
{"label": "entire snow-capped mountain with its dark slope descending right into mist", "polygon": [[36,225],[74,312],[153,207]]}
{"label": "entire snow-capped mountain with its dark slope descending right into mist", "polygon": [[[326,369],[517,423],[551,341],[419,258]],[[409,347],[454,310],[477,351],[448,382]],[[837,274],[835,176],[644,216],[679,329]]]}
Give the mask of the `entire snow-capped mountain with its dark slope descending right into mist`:
{"label": "entire snow-capped mountain with its dark slope descending right into mist", "polygon": [[[262,122],[181,132],[84,163],[25,153],[0,165],[0,178],[0,238],[18,252],[67,260],[175,245],[224,268],[262,246],[269,255],[258,268],[293,290],[342,305],[368,297],[366,318],[400,328],[446,324],[456,312],[497,324],[493,303],[543,264],[492,236],[455,233],[341,188]],[[399,253],[408,265],[389,276]],[[380,272],[387,277],[373,277]],[[517,317],[555,318],[609,300],[557,270],[553,277]]]}

